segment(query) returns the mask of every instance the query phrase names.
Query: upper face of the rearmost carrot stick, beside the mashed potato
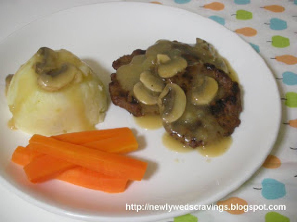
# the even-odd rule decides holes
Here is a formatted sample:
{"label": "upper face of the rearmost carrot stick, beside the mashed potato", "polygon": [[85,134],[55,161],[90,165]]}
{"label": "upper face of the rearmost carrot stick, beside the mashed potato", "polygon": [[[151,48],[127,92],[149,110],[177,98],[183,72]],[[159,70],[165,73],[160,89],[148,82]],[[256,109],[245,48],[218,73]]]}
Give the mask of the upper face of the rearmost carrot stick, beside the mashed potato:
{"label": "upper face of the rearmost carrot stick, beside the mashed potato", "polygon": [[112,128],[104,130],[93,130],[93,131],[83,131],[77,133],[65,133],[61,135],[52,136],[55,139],[76,144],[82,145],[92,141],[97,141],[101,139],[111,138],[119,135],[131,134],[132,131],[128,127],[121,128]]}

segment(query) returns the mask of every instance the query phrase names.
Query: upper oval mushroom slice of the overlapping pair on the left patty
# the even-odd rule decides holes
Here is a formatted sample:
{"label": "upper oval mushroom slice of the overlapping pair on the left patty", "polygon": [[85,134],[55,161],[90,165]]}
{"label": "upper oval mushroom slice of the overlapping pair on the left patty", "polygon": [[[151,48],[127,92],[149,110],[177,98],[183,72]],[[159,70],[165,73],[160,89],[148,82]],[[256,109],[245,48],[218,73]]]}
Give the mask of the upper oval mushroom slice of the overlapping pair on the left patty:
{"label": "upper oval mushroom slice of the overlapping pair on the left patty", "polygon": [[163,80],[153,75],[150,71],[144,71],[140,74],[140,82],[142,82],[146,88],[155,92],[162,92],[165,87]]}

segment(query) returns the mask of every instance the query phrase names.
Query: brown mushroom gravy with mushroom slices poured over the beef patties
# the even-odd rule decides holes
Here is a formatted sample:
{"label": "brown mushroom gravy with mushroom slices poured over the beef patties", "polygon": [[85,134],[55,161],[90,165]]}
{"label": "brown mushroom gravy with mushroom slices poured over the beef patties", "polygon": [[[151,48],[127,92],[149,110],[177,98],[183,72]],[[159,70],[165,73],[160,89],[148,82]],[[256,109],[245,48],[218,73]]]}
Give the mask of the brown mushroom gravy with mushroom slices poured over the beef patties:
{"label": "brown mushroom gravy with mushroom slices poured over the beef patties", "polygon": [[[183,58],[185,54],[197,58]],[[190,46],[177,41],[159,40],[143,55],[133,57],[117,70],[123,89],[132,91],[138,101],[147,106],[158,106],[163,125],[178,134],[187,128],[189,140],[220,140],[224,129],[216,123],[208,104],[223,94],[214,78],[204,73],[194,76],[194,87],[186,94],[180,86],[170,83],[170,77],[197,62],[211,63],[229,73],[225,60],[206,41],[199,38]],[[167,83],[167,84],[166,84]],[[187,141],[187,138],[185,138]]]}

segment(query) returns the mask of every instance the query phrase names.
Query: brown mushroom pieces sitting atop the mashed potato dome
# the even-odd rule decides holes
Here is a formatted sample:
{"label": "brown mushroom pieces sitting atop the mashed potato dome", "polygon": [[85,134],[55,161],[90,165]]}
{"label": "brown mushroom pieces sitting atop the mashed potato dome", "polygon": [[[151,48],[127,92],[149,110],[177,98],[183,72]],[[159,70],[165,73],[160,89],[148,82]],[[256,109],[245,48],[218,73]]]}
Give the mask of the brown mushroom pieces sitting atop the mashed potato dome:
{"label": "brown mushroom pieces sitting atop the mashed potato dome", "polygon": [[[58,52],[42,47],[38,50],[37,56],[40,56],[41,62],[36,62],[35,72],[39,75],[38,84],[45,90],[57,91],[67,86],[75,78],[81,81],[81,73],[70,63],[57,64]],[[76,81],[76,82],[77,82]]]}

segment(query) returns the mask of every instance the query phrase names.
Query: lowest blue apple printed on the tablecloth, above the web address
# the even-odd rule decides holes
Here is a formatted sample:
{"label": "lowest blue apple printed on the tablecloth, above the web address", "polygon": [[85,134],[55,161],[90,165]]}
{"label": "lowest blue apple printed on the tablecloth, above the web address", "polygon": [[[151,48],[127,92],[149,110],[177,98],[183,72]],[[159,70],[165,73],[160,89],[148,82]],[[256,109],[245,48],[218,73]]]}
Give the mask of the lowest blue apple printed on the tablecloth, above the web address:
{"label": "lowest blue apple printed on the tablecloth, above the web address", "polygon": [[272,178],[265,178],[262,181],[261,194],[268,200],[284,197],[286,195],[285,184]]}

